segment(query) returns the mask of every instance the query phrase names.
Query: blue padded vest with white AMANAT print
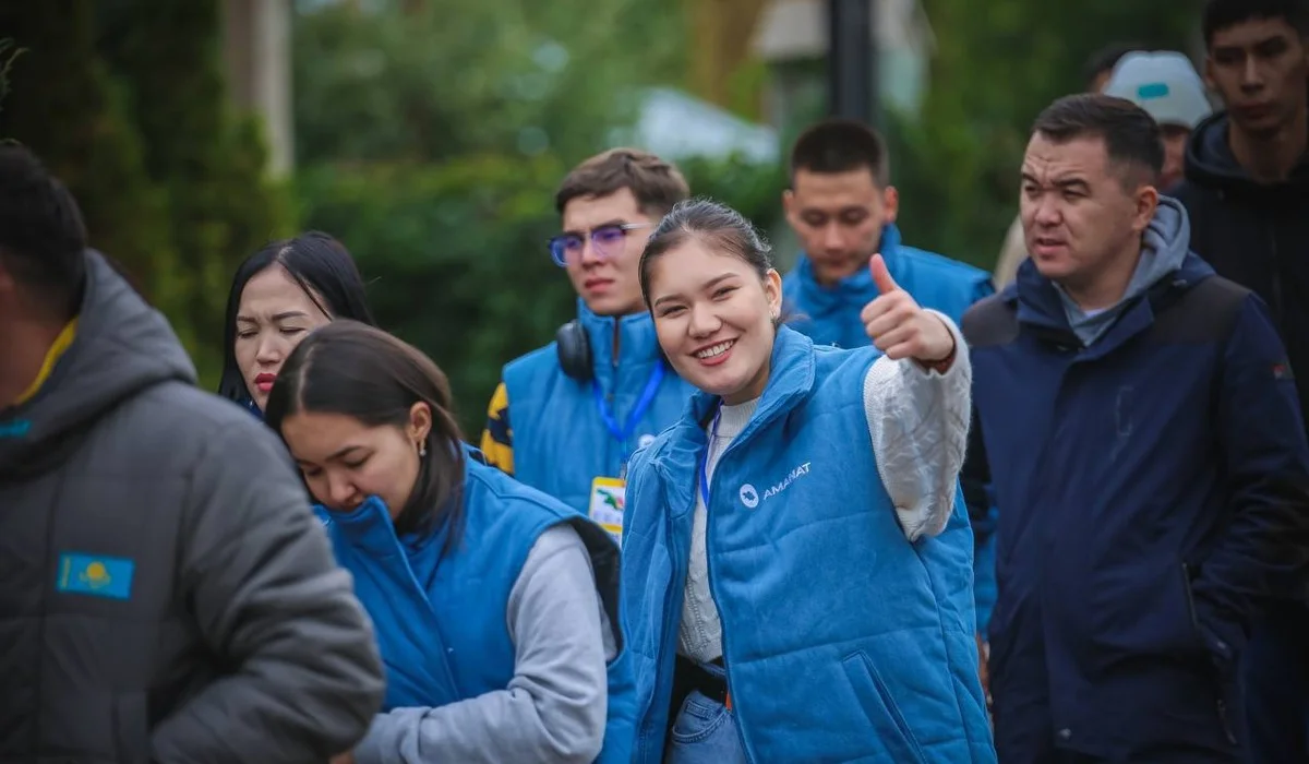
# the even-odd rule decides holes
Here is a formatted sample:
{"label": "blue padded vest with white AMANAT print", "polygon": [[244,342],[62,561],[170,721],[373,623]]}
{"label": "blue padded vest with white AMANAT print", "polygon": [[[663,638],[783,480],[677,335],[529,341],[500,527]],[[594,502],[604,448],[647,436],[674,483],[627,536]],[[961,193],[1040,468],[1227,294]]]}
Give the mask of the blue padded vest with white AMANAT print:
{"label": "blue padded vest with white AMANAT print", "polygon": [[[874,463],[863,385],[877,351],[783,328],[759,408],[709,484],[709,584],[751,761],[994,763],[962,495],[910,544]],[[637,697],[634,761],[662,756],[704,423],[637,452],[623,595]]]}

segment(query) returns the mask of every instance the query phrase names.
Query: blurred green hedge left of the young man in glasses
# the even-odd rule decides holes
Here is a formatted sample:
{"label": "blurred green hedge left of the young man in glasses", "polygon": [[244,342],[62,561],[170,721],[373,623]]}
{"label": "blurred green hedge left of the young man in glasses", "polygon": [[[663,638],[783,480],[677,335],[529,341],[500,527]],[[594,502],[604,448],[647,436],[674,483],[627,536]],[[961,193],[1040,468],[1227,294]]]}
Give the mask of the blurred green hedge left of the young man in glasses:
{"label": "blurred green hedge left of the young man in glasses", "polygon": [[[550,342],[575,315],[568,278],[546,252],[559,228],[552,156],[469,156],[441,165],[304,169],[306,228],[350,248],[378,322],[450,376],[459,421],[476,438],[505,362]],[[736,159],[682,164],[691,187],[763,228],[776,223],[784,176]]]}

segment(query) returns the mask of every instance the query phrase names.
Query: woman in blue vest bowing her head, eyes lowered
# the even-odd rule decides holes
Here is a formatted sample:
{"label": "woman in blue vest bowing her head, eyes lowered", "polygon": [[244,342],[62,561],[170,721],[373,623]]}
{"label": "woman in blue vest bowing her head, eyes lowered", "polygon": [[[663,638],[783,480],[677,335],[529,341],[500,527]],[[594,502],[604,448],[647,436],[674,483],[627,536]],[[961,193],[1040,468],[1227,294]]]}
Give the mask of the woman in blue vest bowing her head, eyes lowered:
{"label": "woman in blue vest bowing her head, eyes lowered", "polygon": [[386,664],[382,713],[340,761],[628,764],[618,548],[462,443],[436,364],[338,320],[291,354],[266,421]]}

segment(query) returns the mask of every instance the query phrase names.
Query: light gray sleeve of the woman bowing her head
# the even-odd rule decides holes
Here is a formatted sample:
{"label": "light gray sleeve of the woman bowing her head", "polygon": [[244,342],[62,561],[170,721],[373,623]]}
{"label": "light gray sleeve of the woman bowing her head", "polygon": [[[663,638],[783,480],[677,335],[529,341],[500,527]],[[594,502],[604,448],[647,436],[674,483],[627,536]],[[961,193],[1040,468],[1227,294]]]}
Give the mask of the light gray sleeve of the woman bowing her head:
{"label": "light gray sleeve of the woman bowing her head", "polygon": [[513,679],[440,708],[406,708],[373,719],[355,750],[359,764],[590,764],[607,718],[606,658],[590,557],[571,525],[537,539],[508,605]]}

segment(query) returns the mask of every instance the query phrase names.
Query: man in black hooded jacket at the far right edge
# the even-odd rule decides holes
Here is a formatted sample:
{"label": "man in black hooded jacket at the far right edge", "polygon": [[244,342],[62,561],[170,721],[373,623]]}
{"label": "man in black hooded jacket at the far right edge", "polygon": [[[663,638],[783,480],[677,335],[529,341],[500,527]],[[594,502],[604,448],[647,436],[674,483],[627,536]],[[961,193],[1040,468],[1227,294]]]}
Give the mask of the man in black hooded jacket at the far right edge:
{"label": "man in black hooded jacket at the far right edge", "polygon": [[[1195,130],[1174,193],[1195,253],[1272,311],[1309,426],[1309,4],[1211,0],[1202,24],[1225,109]],[[1254,764],[1309,759],[1309,595],[1287,583],[1245,657]]]}

